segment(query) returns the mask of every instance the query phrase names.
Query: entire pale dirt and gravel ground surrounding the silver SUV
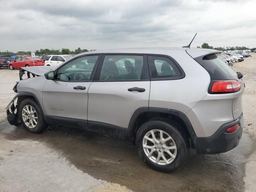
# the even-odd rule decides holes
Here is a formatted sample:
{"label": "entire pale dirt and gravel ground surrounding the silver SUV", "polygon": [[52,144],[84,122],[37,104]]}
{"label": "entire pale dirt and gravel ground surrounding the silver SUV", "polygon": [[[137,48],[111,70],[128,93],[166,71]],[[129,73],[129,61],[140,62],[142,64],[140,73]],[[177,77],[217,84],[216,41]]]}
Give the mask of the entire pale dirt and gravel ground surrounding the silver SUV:
{"label": "entire pale dirt and gravel ground surrounding the silver SUV", "polygon": [[180,170],[148,168],[136,148],[118,138],[54,127],[30,134],[6,122],[18,70],[0,69],[0,192],[198,191],[255,192],[256,54],[234,64],[244,74],[244,132],[224,154],[195,155]]}

